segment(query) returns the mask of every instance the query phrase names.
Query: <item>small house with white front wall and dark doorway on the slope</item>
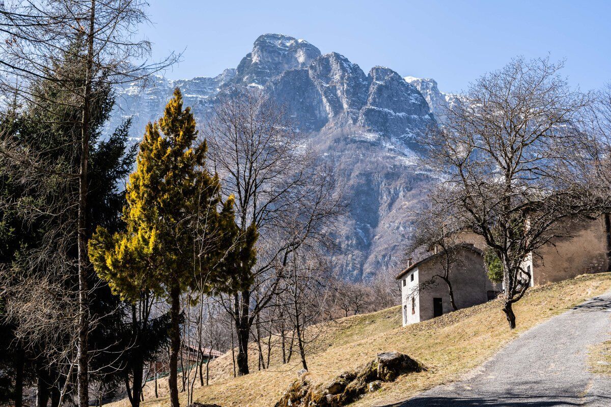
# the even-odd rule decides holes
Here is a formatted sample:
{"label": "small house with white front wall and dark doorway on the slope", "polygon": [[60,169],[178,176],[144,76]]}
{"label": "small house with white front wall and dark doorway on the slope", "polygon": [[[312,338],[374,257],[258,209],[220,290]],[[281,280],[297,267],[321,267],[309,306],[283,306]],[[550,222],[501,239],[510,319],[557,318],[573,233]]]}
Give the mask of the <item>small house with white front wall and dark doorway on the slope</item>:
{"label": "small house with white front wall and dark doorway on the slope", "polygon": [[[466,308],[494,298],[500,287],[486,275],[483,252],[474,243],[459,243],[456,253],[461,261],[453,264],[449,275],[456,307]],[[410,259],[408,267],[397,276],[401,284],[403,326],[453,310],[447,284],[439,278],[436,284],[427,283],[434,275],[443,274],[444,254],[434,250],[420,261]]]}

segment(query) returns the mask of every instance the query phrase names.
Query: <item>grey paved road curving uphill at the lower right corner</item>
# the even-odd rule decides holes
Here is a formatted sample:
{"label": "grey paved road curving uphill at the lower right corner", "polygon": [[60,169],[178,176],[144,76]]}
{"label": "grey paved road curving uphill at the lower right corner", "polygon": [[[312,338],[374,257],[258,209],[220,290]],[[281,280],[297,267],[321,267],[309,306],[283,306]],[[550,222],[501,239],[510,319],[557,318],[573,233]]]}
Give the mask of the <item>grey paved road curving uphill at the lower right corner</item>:
{"label": "grey paved road curving uphill at the lower right corner", "polygon": [[470,378],[435,387],[400,407],[611,406],[611,379],[588,372],[588,345],[611,333],[611,292],[535,326]]}

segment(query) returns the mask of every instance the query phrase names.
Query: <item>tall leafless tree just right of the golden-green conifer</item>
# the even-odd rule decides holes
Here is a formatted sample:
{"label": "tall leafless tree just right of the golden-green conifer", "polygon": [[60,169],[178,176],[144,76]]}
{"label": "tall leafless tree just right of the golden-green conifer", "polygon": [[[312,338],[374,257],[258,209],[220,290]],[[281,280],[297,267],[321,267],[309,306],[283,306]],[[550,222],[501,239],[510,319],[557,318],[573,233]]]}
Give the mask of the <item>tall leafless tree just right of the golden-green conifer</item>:
{"label": "tall leafless tree just right of the golden-green conifer", "polygon": [[[252,324],[277,295],[293,250],[308,240],[328,243],[327,227],[343,211],[342,197],[307,134],[295,131],[285,109],[259,90],[219,96],[206,137],[224,195],[235,196],[240,236],[256,248],[256,257],[231,273],[224,301],[235,323],[238,373],[246,375]],[[247,237],[249,228],[258,233],[256,242]]]}

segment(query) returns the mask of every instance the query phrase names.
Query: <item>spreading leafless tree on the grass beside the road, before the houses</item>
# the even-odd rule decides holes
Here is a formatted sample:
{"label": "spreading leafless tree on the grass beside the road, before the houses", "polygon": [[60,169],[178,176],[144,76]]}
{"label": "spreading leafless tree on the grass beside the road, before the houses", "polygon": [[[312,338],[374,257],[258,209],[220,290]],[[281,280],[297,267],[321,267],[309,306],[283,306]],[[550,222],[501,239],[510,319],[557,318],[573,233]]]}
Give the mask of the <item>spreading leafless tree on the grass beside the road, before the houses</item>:
{"label": "spreading leafless tree on the grass beside the road, before the houses", "polygon": [[569,88],[562,63],[514,59],[480,77],[444,126],[422,142],[444,181],[430,198],[480,234],[503,269],[503,312],[516,326],[513,304],[530,286],[523,266],[554,237],[559,223],[606,211],[609,191],[598,193],[596,144],[581,130],[591,97]]}

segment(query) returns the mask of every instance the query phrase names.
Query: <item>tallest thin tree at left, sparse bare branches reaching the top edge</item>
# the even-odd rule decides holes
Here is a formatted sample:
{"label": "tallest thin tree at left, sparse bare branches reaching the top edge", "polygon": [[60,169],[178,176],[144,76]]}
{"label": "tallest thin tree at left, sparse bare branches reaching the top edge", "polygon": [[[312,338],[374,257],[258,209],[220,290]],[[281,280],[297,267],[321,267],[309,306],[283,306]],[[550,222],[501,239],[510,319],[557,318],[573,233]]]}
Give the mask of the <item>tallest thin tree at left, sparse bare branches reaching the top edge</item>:
{"label": "tallest thin tree at left, sparse bare branches reaching the top edge", "polygon": [[[0,87],[8,93],[31,100],[40,79],[63,85],[70,98],[54,100],[61,106],[79,109],[78,120],[70,122],[77,165],[65,173],[78,181],[73,196],[78,209],[76,230],[76,270],[79,277],[79,323],[76,344],[78,361],[79,406],[89,405],[88,333],[89,289],[87,264],[87,187],[90,159],[91,107],[95,87],[140,79],[160,65],[142,66],[137,60],[150,51],[148,41],[134,39],[134,30],[147,21],[145,2],[141,0],[43,0],[39,2],[3,2],[0,6],[2,41],[0,41]],[[63,59],[64,50],[76,46],[79,58]],[[69,70],[65,69],[70,62]],[[166,66],[167,62],[161,66]],[[58,71],[57,67],[61,69]],[[152,68],[152,69],[147,69]],[[46,96],[46,95],[38,95]],[[59,120],[59,118],[57,118]],[[14,157],[14,156],[13,156]],[[30,162],[33,162],[30,157]],[[40,164],[40,163],[39,163]],[[32,170],[45,174],[44,165]]]}

